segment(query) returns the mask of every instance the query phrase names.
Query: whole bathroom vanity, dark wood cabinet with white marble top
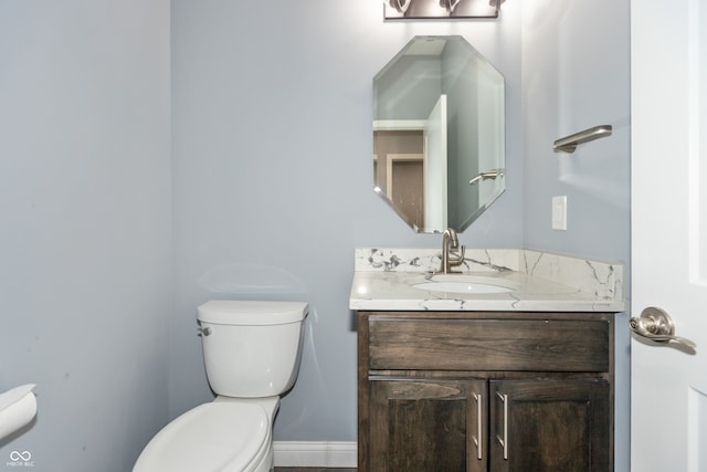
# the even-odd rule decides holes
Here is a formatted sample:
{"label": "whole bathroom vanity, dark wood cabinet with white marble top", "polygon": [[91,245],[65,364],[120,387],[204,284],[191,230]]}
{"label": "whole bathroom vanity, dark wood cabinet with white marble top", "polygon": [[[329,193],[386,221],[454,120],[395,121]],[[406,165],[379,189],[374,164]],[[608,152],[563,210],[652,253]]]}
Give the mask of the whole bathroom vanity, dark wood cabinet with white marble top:
{"label": "whole bathroom vanity, dark wood cabinet with white marble top", "polygon": [[439,258],[356,251],[359,470],[613,470],[621,264],[467,250],[433,276]]}

